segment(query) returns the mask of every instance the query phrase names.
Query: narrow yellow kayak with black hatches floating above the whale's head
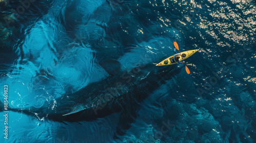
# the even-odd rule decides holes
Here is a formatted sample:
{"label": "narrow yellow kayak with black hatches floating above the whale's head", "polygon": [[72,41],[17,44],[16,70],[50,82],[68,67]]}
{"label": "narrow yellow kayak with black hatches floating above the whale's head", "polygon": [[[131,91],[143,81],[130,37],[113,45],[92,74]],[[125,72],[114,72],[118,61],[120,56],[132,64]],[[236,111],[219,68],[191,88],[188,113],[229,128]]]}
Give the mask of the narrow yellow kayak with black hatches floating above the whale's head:
{"label": "narrow yellow kayak with black hatches floating above the whale's head", "polygon": [[[175,55],[179,55],[179,56],[181,55],[182,58],[183,58],[183,60],[185,60],[186,58],[188,58],[188,57],[190,57],[191,55],[195,54],[198,50],[199,50],[199,49],[197,49],[197,50],[189,50],[189,51],[181,52],[181,53],[175,54]],[[156,66],[163,66],[163,65],[176,64],[177,62],[174,62],[174,61],[173,61],[173,57],[174,57],[175,55],[170,56],[169,58],[167,58],[167,59],[161,61],[160,63],[156,64]],[[180,61],[182,61],[182,58],[180,58]],[[172,61],[172,62],[171,62],[171,61]]]}

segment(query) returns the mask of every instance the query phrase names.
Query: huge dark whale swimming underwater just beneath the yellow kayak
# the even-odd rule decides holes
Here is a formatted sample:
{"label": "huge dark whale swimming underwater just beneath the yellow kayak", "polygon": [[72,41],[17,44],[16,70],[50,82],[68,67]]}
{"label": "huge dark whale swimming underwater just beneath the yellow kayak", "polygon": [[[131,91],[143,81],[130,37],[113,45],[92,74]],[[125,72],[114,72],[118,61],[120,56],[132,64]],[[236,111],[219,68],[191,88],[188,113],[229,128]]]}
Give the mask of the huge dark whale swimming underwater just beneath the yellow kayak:
{"label": "huge dark whale swimming underwater just beneath the yellow kayak", "polygon": [[166,80],[180,73],[176,66],[156,68],[154,64],[136,66],[130,71],[117,70],[120,71],[116,76],[45,102],[40,108],[10,110],[56,122],[94,121],[120,112],[116,135],[123,135],[136,120],[143,100]]}

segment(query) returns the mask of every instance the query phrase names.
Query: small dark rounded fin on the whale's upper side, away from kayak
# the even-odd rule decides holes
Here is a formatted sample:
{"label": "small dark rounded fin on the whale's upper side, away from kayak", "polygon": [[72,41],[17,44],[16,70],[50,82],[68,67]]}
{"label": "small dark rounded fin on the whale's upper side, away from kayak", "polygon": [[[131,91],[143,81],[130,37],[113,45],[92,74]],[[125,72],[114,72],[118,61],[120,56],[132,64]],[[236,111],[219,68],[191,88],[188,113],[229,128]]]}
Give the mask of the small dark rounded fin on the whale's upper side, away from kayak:
{"label": "small dark rounded fin on the whale's upper side, away from kayak", "polygon": [[119,61],[115,59],[106,59],[99,64],[105,69],[106,73],[110,74],[111,76],[117,76],[119,74],[121,64]]}

